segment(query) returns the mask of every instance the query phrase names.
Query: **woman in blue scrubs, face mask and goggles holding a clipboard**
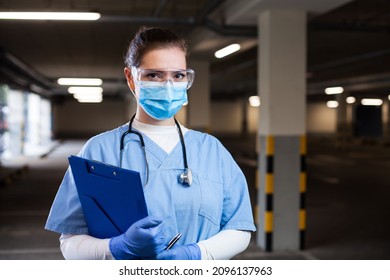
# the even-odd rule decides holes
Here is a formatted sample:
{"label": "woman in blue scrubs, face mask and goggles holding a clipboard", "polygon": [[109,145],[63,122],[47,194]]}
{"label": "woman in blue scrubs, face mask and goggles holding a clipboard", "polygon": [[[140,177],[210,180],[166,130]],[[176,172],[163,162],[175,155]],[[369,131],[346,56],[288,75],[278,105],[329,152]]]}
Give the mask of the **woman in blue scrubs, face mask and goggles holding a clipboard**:
{"label": "woman in blue scrubs, face mask and goggles holding a clipboard", "polygon": [[[185,41],[166,29],[143,27],[131,41],[124,73],[136,114],[79,156],[140,172],[149,216],[119,236],[88,235],[68,168],[45,226],[61,234],[66,259],[230,259],[247,248],[255,226],[242,171],[217,139],[174,119],[194,80],[186,57]],[[141,133],[145,154],[128,131]]]}

